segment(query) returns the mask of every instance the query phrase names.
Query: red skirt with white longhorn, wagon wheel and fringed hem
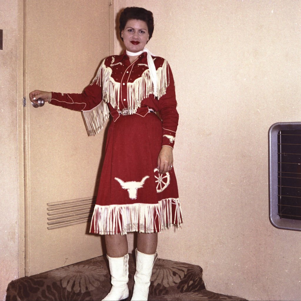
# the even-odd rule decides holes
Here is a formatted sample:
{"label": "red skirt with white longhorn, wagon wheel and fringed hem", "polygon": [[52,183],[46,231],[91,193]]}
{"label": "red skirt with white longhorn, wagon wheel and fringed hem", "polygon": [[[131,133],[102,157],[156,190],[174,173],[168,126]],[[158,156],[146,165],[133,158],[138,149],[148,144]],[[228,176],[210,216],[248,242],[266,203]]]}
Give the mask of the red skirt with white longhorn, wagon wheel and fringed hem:
{"label": "red skirt with white longhorn, wagon wheel and fringed hem", "polygon": [[91,233],[154,233],[182,223],[174,169],[157,170],[162,131],[155,113],[110,123]]}

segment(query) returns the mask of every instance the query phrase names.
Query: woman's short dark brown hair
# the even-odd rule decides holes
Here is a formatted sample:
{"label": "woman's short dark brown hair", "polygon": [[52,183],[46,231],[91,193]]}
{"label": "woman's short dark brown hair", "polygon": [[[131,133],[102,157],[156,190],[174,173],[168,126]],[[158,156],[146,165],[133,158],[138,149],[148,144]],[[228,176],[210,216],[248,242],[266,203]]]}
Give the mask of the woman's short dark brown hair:
{"label": "woman's short dark brown hair", "polygon": [[123,10],[119,17],[119,35],[120,38],[123,40],[121,36],[121,32],[126,27],[126,22],[135,19],[135,20],[142,20],[147,24],[147,29],[149,33],[149,39],[151,39],[153,32],[154,32],[154,17],[151,11],[147,11],[145,8],[142,7],[127,7]]}

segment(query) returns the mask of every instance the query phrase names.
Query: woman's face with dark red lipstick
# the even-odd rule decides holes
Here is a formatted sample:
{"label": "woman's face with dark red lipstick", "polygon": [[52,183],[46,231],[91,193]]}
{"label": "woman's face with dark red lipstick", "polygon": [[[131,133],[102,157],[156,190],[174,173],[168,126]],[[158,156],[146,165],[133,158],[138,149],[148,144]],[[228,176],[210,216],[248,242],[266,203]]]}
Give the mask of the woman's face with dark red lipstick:
{"label": "woman's face with dark red lipstick", "polygon": [[123,43],[126,50],[138,52],[143,50],[148,39],[149,33],[146,22],[142,20],[130,19],[121,32]]}

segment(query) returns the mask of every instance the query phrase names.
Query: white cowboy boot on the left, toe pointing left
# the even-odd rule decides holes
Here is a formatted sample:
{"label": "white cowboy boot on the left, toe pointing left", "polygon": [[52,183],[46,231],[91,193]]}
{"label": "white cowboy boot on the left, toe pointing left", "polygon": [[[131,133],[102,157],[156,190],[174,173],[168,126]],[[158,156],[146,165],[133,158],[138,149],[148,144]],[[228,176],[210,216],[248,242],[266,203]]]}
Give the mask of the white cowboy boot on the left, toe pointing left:
{"label": "white cowboy boot on the left, toe pointing left", "polygon": [[129,296],[129,254],[122,257],[109,257],[109,267],[112,276],[110,293],[102,301],[123,300]]}

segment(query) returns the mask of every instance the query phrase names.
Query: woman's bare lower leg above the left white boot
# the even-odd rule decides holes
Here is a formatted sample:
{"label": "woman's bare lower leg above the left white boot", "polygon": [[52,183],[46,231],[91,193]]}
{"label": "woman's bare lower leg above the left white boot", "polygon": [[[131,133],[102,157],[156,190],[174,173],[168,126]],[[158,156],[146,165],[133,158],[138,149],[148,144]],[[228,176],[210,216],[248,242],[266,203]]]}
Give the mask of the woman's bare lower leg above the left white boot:
{"label": "woman's bare lower leg above the left white boot", "polygon": [[122,257],[129,253],[126,235],[105,235],[107,255],[110,257]]}

